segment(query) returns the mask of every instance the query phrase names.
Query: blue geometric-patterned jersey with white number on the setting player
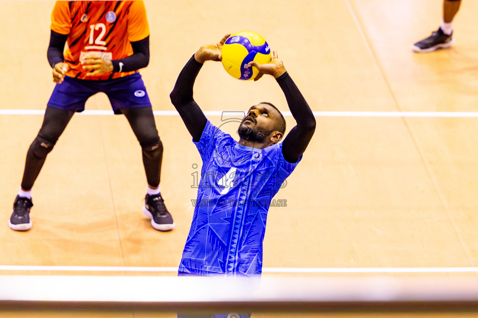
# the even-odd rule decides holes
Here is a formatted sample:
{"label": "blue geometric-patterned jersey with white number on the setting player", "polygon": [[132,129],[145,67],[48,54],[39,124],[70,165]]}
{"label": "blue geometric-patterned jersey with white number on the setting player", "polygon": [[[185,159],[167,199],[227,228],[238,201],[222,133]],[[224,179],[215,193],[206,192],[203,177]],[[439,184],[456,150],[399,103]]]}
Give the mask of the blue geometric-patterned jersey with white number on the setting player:
{"label": "blue geometric-patterned jersey with white number on the setting player", "polygon": [[302,156],[291,164],[282,143],[240,146],[209,121],[195,144],[203,167],[179,272],[258,277],[269,205]]}

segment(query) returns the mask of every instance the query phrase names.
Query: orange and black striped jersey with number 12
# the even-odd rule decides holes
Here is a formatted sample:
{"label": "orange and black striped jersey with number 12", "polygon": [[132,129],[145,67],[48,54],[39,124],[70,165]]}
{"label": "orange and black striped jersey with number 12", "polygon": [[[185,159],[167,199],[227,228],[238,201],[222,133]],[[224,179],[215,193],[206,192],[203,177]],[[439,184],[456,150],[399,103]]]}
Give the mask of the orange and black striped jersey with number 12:
{"label": "orange and black striped jersey with number 12", "polygon": [[135,72],[119,72],[122,63],[119,67],[113,63],[118,72],[86,76],[88,71],[83,70],[81,61],[87,52],[96,52],[106,60],[121,60],[133,54],[131,42],[149,36],[146,10],[140,0],[56,1],[51,30],[52,36],[54,32],[67,36],[68,48],[63,56],[70,70],[66,75],[87,80],[119,78]]}

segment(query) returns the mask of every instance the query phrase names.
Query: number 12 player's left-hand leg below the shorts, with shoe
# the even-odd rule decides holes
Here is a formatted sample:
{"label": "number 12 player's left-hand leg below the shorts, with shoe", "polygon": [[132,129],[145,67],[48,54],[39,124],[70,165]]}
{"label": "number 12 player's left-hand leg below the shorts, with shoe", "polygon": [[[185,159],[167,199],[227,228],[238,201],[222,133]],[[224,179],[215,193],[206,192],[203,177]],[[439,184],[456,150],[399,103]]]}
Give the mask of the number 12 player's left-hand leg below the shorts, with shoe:
{"label": "number 12 player's left-hand leg below the shorts, with shoe", "polygon": [[30,209],[33,206],[33,184],[43,167],[46,156],[52,151],[74,113],[74,111],[46,107],[40,132],[27,152],[22,185],[13,203],[13,212],[8,222],[12,230],[26,231],[32,228]]}

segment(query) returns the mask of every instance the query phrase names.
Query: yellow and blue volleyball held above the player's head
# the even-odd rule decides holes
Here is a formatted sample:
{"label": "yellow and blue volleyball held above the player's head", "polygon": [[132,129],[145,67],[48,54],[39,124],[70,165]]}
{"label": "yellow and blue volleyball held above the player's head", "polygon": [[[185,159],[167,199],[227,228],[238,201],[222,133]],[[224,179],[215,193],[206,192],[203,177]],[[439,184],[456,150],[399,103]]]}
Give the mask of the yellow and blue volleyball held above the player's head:
{"label": "yellow and blue volleyball held above the player's head", "polygon": [[253,80],[259,70],[256,67],[248,67],[249,62],[259,64],[271,62],[271,49],[266,40],[256,32],[240,31],[232,34],[221,50],[222,66],[226,72],[239,80]]}

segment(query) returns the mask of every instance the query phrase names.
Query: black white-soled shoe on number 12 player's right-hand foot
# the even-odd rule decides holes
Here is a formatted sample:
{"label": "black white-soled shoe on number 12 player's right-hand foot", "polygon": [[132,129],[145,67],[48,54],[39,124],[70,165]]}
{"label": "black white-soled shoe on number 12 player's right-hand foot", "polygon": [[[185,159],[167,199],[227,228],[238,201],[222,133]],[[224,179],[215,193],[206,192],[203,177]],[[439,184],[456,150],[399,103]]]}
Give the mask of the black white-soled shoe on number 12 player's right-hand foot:
{"label": "black white-soled shoe on number 12 player's right-hand foot", "polygon": [[144,198],[143,213],[151,219],[151,225],[159,231],[174,229],[173,216],[166,209],[163,197],[159,195],[146,195]]}

